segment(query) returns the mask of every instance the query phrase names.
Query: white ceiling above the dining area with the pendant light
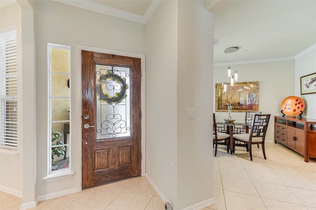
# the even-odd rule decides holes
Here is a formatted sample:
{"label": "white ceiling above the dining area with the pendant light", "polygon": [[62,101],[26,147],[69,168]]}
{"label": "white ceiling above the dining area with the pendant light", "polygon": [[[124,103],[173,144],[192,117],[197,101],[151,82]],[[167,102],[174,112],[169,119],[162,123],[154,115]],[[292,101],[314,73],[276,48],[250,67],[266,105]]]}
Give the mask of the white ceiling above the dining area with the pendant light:
{"label": "white ceiling above the dining area with the pendant light", "polygon": [[214,63],[233,46],[238,61],[250,61],[286,60],[316,44],[315,0],[220,0],[209,10],[219,39]]}

